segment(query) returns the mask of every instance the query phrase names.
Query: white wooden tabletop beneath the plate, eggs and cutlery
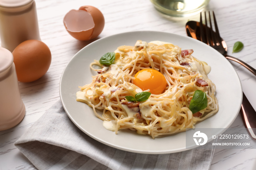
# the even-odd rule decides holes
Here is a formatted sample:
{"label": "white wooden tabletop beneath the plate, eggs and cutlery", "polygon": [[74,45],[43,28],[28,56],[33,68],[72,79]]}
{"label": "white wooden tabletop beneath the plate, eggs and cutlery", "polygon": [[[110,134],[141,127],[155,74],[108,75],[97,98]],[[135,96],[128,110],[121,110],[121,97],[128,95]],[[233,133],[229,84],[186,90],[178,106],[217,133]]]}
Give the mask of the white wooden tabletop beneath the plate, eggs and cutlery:
{"label": "white wooden tabletop beneath the plate, eggs and cutlery", "polygon": [[[105,17],[105,28],[98,38],[137,30],[165,31],[186,36],[185,23],[199,20],[199,15],[173,20],[155,10],[150,0],[35,0],[41,40],[52,53],[48,72],[39,80],[19,83],[26,115],[22,122],[10,130],[0,131],[0,170],[35,169],[29,160],[14,146],[14,142],[59,100],[61,73],[70,59],[90,42],[81,42],[68,34],[63,25],[64,15],[82,5],[100,9]],[[211,0],[208,7],[214,10],[222,38],[228,46],[228,54],[256,68],[256,1]],[[236,41],[245,47],[232,54]],[[244,67],[232,62],[242,83],[244,93],[256,109],[256,76]],[[231,127],[244,128],[240,114]],[[212,170],[256,169],[255,149],[215,150]]]}

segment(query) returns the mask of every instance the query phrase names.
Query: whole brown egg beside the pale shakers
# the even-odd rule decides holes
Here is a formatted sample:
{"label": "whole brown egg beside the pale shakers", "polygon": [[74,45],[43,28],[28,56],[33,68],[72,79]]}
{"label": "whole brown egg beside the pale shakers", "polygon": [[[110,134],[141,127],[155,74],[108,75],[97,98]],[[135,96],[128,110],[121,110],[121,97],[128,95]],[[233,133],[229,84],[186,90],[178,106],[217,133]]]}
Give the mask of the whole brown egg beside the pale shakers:
{"label": "whole brown egg beside the pale shakers", "polygon": [[52,61],[49,47],[39,40],[26,40],[12,52],[18,81],[38,80],[48,71]]}

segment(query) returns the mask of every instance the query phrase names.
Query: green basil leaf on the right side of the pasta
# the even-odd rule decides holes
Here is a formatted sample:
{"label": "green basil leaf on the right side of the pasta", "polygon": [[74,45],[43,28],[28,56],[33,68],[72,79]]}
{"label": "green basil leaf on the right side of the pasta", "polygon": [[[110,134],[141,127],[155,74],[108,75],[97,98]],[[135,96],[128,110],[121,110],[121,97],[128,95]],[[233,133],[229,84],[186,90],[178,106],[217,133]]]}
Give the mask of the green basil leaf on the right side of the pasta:
{"label": "green basil leaf on the right side of the pasta", "polygon": [[204,93],[201,90],[196,90],[189,104],[189,109],[194,114],[200,110],[205,109],[207,107],[207,104],[208,102],[207,102],[206,93]]}

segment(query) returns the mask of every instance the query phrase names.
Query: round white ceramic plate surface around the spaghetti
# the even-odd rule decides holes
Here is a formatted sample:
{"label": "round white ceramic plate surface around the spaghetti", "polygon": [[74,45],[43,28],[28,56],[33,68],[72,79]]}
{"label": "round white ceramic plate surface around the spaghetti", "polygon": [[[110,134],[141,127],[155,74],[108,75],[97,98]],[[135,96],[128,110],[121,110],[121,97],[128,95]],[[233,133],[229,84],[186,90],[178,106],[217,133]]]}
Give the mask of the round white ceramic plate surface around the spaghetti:
{"label": "round white ceramic plate surface around the spaghetti", "polygon": [[[99,59],[103,54],[117,49],[121,45],[134,46],[136,40],[150,42],[161,40],[178,45],[181,49],[193,49],[194,57],[205,61],[211,66],[208,77],[217,86],[216,97],[219,111],[214,116],[197,123],[196,128],[220,128],[216,135],[221,134],[221,128],[228,128],[241,108],[242,87],[240,79],[233,66],[220,53],[210,46],[176,34],[156,31],[136,31],[101,38],[80,50],[65,67],[60,80],[60,98],[63,107],[72,122],[91,138],[120,150],[143,154],[167,154],[187,150],[185,133],[152,139],[148,135],[138,135],[129,130],[118,131],[116,135],[106,130],[102,120],[94,116],[92,108],[76,101],[78,86],[92,81],[89,64]],[[211,139],[208,139],[208,142]],[[193,147],[197,147],[196,144]]]}

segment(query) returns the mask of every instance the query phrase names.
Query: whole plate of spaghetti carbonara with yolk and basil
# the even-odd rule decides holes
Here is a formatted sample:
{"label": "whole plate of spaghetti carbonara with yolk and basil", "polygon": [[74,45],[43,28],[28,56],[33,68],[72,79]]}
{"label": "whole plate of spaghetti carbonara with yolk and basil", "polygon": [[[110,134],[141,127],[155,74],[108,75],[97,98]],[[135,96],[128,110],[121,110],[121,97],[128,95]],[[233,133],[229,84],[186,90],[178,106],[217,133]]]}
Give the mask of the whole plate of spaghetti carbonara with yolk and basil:
{"label": "whole plate of spaghetti carbonara with yolk and basil", "polygon": [[242,88],[232,65],[210,46],[137,31],[80,50],[64,69],[60,97],[91,138],[125,151],[166,154],[187,150],[189,129],[228,128],[241,108]]}

